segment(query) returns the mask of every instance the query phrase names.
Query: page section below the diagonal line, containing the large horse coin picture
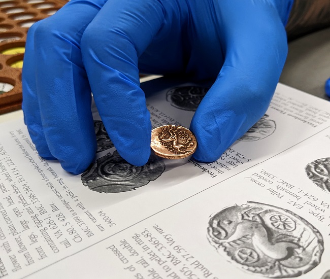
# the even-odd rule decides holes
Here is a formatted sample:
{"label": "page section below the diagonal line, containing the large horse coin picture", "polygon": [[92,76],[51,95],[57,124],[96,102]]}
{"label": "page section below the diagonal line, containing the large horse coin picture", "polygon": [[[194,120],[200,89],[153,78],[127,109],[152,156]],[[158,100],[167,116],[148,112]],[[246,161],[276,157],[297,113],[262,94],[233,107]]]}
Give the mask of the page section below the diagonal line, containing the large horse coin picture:
{"label": "page section below the diagonal line, containing the large horse coin picture", "polygon": [[[76,258],[65,259],[71,268],[62,274],[68,278],[326,278],[330,178],[329,172],[327,178],[322,176],[326,160],[319,160],[330,160],[330,150],[324,151],[329,140],[330,128],[142,220]],[[311,175],[313,161],[319,169]],[[327,162],[328,170],[329,166]],[[81,270],[77,258],[80,264],[95,267]],[[55,272],[58,266],[39,276]]]}

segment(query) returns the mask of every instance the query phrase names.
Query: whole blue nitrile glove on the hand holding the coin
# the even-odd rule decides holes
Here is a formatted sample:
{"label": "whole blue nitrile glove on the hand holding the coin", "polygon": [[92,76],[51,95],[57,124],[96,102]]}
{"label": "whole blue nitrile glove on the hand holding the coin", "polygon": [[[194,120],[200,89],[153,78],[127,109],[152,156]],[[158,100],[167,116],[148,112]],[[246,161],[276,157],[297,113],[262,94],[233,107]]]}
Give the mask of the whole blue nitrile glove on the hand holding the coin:
{"label": "whole blue nitrile glove on the hand holding the coin", "polygon": [[191,122],[213,161],[267,110],[293,0],[72,0],[28,31],[25,123],[39,154],[80,173],[94,158],[91,91],[119,154],[143,165],[150,115],[139,70],[216,78]]}

